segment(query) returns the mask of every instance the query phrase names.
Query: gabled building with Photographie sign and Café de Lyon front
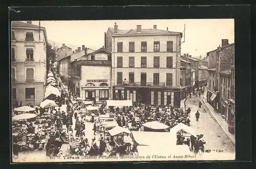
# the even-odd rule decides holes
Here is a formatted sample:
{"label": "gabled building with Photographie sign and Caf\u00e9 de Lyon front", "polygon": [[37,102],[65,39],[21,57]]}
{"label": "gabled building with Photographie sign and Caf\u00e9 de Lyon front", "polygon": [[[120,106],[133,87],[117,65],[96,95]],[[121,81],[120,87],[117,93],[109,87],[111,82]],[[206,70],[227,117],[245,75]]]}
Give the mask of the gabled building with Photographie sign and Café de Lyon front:
{"label": "gabled building with Photographie sign and Caf\u00e9 de Lyon front", "polygon": [[75,86],[81,98],[111,99],[111,53],[103,48],[75,59]]}

